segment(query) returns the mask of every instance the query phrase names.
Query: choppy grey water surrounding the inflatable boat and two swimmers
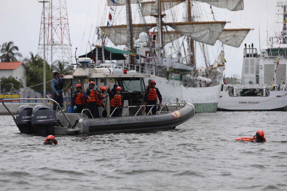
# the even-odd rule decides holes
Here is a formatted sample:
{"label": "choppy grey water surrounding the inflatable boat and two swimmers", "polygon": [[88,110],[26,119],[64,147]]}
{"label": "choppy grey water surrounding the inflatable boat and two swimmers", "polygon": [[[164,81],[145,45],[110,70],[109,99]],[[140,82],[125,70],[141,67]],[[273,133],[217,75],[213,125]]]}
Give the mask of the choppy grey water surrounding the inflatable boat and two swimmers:
{"label": "choppy grey water surrounding the inflatable boat and two swimmers", "polygon": [[[174,130],[44,137],[0,116],[0,190],[287,190],[286,112],[196,114]],[[236,137],[265,132],[265,143]]]}

